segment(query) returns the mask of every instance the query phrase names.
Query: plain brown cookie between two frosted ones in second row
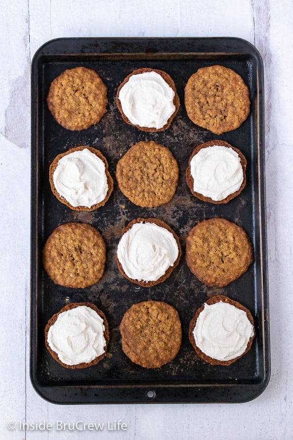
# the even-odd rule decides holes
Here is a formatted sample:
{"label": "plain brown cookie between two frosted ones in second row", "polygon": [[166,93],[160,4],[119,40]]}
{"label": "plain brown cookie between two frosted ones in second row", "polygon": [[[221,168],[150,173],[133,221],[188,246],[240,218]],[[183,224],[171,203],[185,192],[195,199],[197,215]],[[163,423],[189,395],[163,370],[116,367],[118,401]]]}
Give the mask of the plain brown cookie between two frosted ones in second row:
{"label": "plain brown cookie between two frosted ones in second row", "polygon": [[153,208],[174,196],[179,168],[164,145],[141,141],[118,161],[116,178],[123,194],[138,206]]}

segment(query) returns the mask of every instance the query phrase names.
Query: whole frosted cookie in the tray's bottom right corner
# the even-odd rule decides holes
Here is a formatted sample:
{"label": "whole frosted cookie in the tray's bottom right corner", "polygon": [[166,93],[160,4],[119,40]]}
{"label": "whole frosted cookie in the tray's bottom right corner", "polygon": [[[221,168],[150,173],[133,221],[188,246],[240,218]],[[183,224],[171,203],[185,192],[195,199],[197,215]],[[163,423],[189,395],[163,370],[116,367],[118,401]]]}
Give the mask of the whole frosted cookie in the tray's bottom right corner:
{"label": "whole frosted cookie in the tray's bottom right corner", "polygon": [[189,324],[189,340],[205,362],[227,366],[244,356],[255,335],[251,312],[227,296],[208,299]]}

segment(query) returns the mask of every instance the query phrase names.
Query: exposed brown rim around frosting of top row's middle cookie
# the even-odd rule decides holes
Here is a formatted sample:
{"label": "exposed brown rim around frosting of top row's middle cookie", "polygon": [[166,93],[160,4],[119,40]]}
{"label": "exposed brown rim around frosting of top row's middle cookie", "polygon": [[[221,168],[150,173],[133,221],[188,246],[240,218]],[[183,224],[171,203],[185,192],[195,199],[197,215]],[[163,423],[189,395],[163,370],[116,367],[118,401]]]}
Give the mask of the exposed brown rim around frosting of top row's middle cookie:
{"label": "exposed brown rim around frosting of top row's middle cookie", "polygon": [[[169,119],[167,120],[167,123],[162,128],[160,128],[160,129],[156,129],[155,127],[141,127],[140,125],[132,124],[132,122],[129,121],[129,119],[127,118],[126,114],[123,112],[122,106],[121,106],[121,102],[120,102],[120,99],[119,99],[120,90],[128,82],[129,78],[132,75],[138,75],[140,73],[145,73],[145,72],[156,72],[159,75],[161,75],[161,77],[166,81],[167,85],[170,88],[172,88],[172,90],[175,93],[175,96],[173,98],[173,104],[175,106],[175,110],[171,114]],[[139,69],[133,70],[129,75],[126,76],[125,80],[120,84],[120,86],[117,89],[116,104],[117,104],[118,110],[121,113],[121,116],[122,116],[123,120],[127,124],[132,125],[132,127],[136,127],[139,130],[142,130],[144,132],[162,132],[164,130],[167,130],[170,127],[171,122],[173,121],[173,119],[175,118],[176,114],[178,113],[178,110],[180,108],[180,99],[179,99],[179,96],[178,96],[178,93],[177,93],[177,90],[176,90],[175,83],[174,83],[173,79],[170,77],[170,75],[167,72],[165,72],[164,70],[152,69],[152,68],[149,68],[149,67],[141,67]]]}

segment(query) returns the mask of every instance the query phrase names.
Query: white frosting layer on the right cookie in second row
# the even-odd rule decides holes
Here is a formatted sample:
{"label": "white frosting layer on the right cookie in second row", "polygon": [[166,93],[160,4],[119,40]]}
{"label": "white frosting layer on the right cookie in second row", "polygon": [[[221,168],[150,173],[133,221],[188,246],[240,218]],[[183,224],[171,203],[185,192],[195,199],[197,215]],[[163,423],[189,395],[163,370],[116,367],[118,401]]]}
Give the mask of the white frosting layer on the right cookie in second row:
{"label": "white frosting layer on the right cookie in second row", "polygon": [[219,201],[238,191],[243,182],[239,155],[230,147],[202,148],[190,161],[193,191]]}

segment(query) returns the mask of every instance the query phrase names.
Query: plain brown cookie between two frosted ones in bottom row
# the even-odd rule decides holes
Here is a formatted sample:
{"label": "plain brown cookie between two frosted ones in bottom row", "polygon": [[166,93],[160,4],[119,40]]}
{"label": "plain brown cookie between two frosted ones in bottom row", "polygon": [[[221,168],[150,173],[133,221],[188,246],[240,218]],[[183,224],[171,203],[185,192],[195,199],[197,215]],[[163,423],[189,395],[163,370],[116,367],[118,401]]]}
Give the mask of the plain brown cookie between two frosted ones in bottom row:
{"label": "plain brown cookie between two frosted ones in bottom row", "polygon": [[133,304],[121,321],[120,331],[126,356],[145,368],[160,368],[171,362],[181,347],[178,312],[161,301]]}

